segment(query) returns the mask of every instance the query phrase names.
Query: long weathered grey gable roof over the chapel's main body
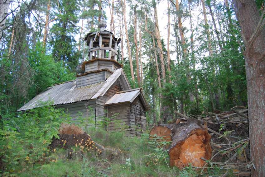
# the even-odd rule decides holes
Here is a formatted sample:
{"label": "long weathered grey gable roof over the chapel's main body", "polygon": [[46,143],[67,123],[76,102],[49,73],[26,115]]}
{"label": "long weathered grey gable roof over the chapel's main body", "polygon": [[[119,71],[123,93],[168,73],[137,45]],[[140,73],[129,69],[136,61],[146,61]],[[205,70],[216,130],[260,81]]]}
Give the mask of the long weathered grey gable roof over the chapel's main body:
{"label": "long weathered grey gable roof over the chapel's main body", "polygon": [[26,103],[17,111],[33,109],[40,107],[40,102],[53,101],[52,105],[68,104],[77,101],[96,99],[101,95],[104,95],[109,87],[118,79],[123,80],[123,84],[126,89],[130,89],[131,86],[123,72],[123,69],[117,69],[113,74],[108,77],[104,82],[98,82],[81,87],[76,86],[76,80],[64,82],[47,88],[39,95],[35,96],[32,100]]}

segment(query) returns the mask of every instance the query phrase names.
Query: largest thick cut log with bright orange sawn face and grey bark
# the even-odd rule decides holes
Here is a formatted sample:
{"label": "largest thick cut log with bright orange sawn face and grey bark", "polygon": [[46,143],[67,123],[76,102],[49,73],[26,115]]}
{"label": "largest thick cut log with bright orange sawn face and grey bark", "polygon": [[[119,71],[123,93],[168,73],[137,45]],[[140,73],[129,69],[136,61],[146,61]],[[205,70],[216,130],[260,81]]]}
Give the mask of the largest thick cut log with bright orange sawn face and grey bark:
{"label": "largest thick cut log with bright orange sawn face and grey bark", "polygon": [[210,139],[208,131],[196,123],[179,128],[169,147],[169,164],[179,168],[202,167],[206,162],[201,158],[211,158]]}

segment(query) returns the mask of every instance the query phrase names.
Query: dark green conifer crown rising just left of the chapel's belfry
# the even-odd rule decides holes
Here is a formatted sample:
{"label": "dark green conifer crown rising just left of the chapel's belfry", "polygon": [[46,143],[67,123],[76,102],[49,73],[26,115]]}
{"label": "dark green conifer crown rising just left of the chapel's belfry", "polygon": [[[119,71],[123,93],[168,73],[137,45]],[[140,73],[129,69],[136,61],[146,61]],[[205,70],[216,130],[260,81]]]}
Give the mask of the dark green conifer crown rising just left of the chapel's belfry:
{"label": "dark green conifer crown rising just left of the chapel's belfry", "polygon": [[64,65],[74,71],[79,63],[80,54],[75,47],[73,35],[77,34],[79,6],[75,0],[61,0],[59,21],[51,28],[52,54],[57,61],[63,61]]}

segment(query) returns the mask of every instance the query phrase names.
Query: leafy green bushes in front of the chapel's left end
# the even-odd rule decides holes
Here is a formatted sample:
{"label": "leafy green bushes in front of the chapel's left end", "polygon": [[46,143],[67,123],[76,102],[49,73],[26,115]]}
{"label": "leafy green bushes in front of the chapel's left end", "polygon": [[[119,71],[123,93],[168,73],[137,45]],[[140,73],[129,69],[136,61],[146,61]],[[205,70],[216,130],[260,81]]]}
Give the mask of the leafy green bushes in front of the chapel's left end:
{"label": "leafy green bushes in front of the chapel's left end", "polygon": [[60,123],[69,117],[60,109],[42,106],[19,114],[17,117],[3,116],[0,130],[1,173],[12,175],[19,172],[19,165],[34,166],[43,163],[50,153],[48,145],[58,137]]}

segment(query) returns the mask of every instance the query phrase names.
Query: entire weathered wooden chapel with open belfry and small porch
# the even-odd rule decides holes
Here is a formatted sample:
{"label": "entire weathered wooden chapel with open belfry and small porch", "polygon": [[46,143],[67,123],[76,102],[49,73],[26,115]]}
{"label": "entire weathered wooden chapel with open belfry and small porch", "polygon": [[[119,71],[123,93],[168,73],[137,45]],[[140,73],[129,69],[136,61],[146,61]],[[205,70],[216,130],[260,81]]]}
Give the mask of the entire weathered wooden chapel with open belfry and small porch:
{"label": "entire weathered wooden chapel with open belfry and small porch", "polygon": [[[117,47],[121,39],[106,30],[106,22],[99,22],[99,31],[88,33],[84,40],[88,60],[82,63],[76,79],[47,88],[18,111],[41,106],[51,101],[56,108],[64,108],[72,122],[86,126],[102,127],[108,131],[126,128],[129,134],[138,136],[146,129],[146,111],[149,110],[142,88],[132,89],[117,61]],[[92,120],[92,123],[91,123]]]}

